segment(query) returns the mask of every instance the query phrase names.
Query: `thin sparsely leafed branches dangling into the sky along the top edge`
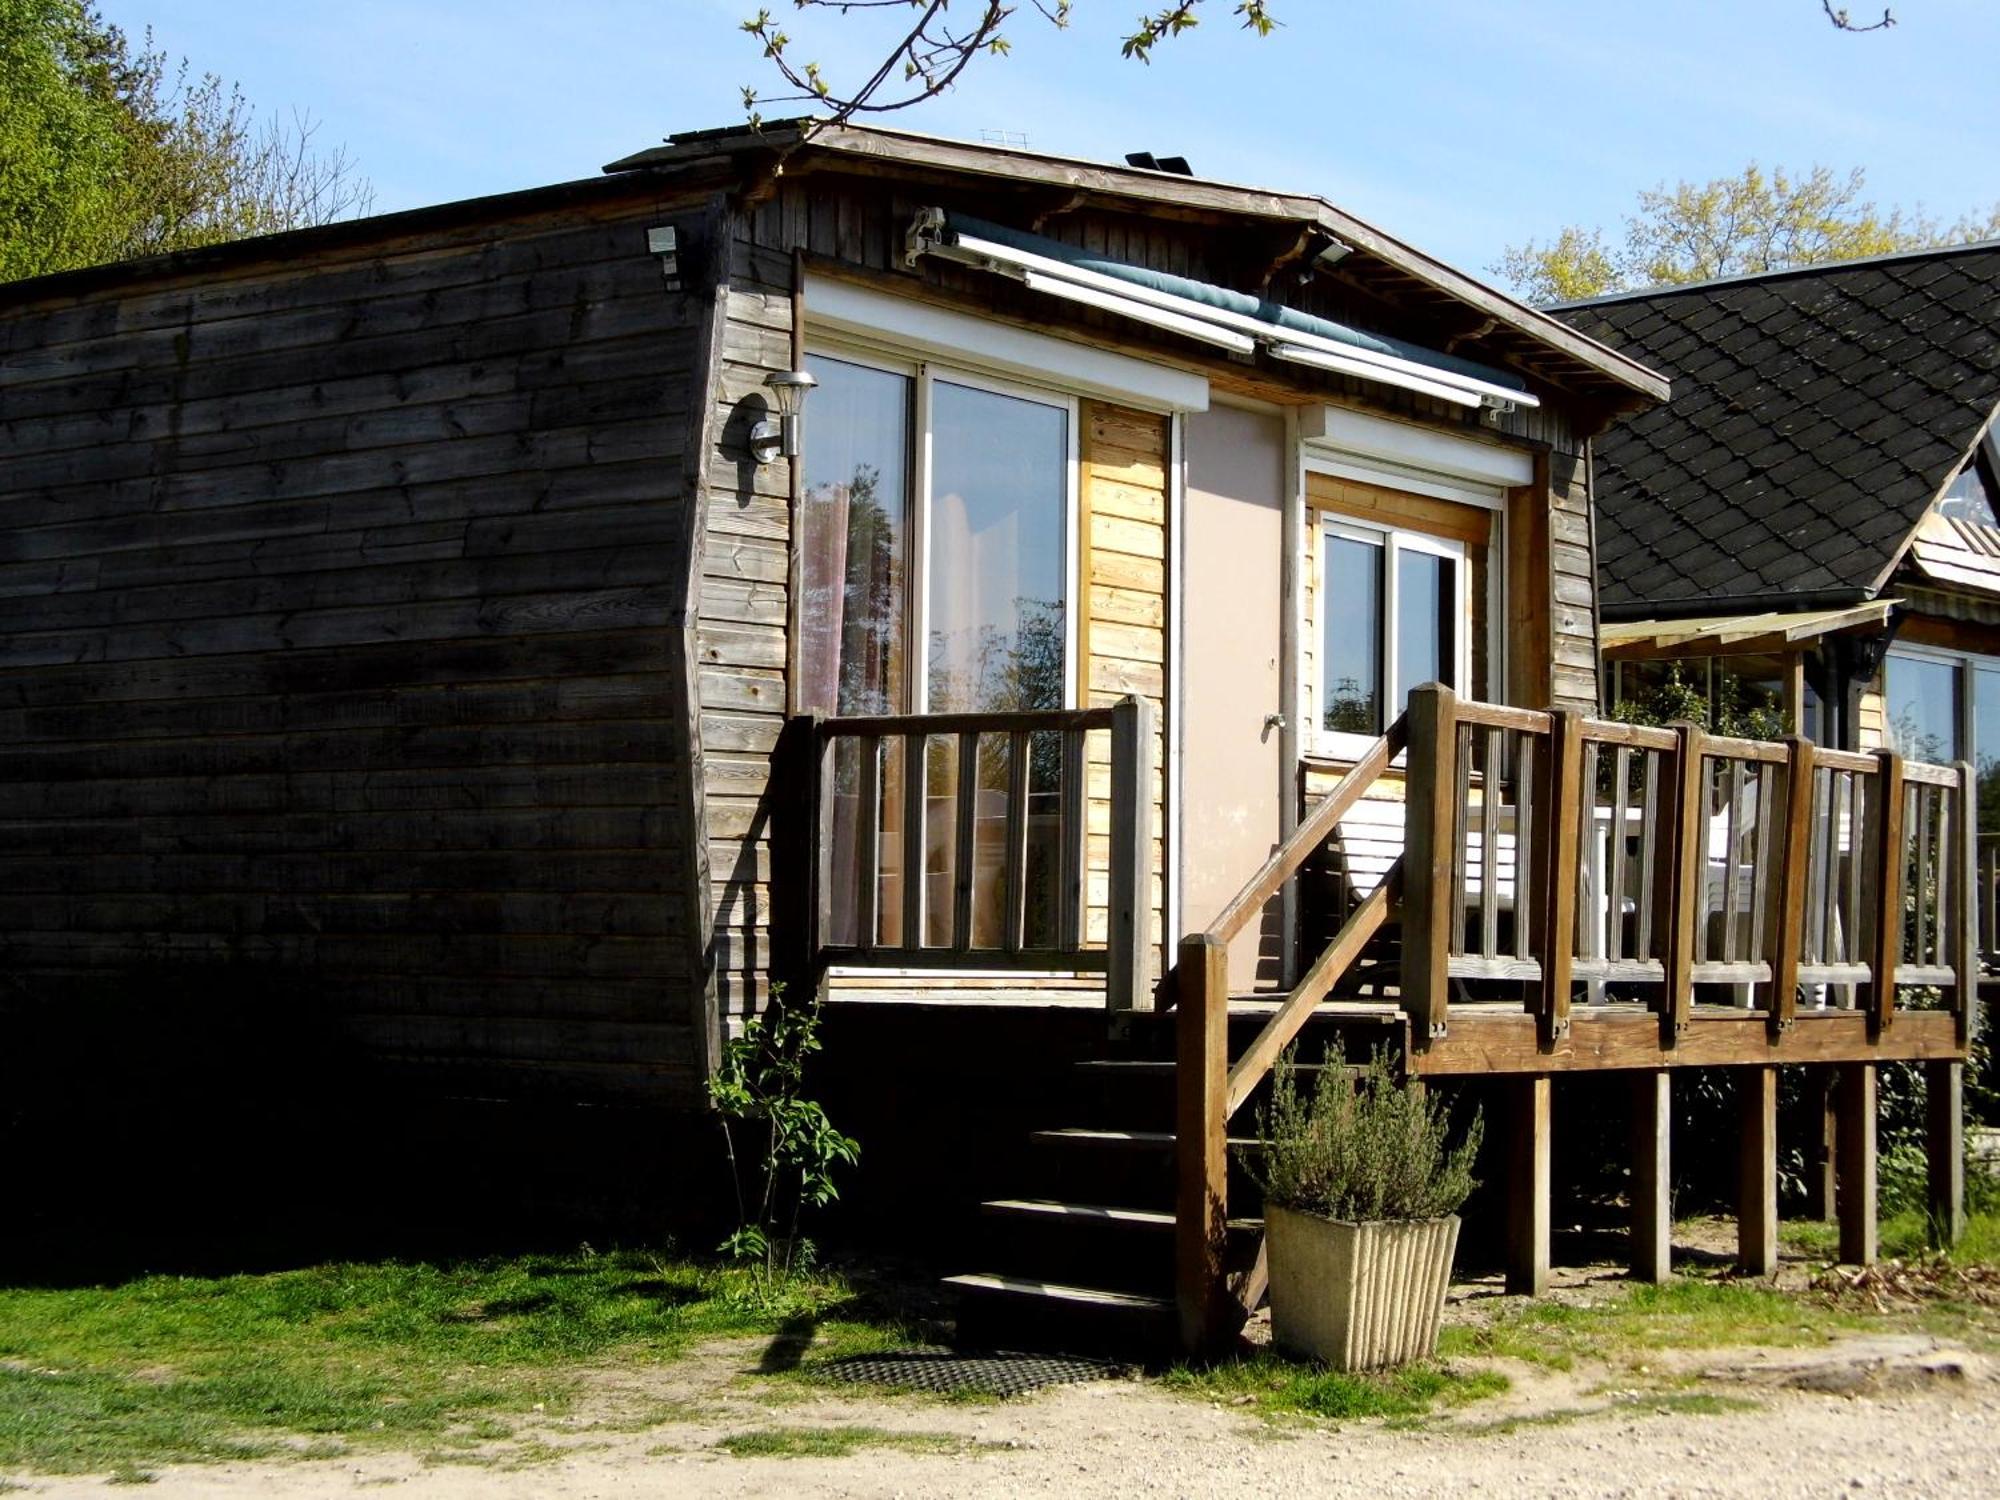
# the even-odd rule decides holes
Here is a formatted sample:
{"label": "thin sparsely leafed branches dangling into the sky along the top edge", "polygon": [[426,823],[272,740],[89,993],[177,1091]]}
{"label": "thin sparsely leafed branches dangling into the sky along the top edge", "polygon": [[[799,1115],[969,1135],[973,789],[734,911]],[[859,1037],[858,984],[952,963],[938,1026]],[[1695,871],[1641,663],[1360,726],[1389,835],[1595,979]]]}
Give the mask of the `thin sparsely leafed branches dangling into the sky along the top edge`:
{"label": "thin sparsely leafed branches dangling into the sky along the top edge", "polygon": [[[1028,0],[1028,4],[1050,26],[1062,28],[1070,24],[1076,0]],[[1176,0],[1176,4],[1140,12],[1118,50],[1132,62],[1152,62],[1152,50],[1160,42],[1194,30],[1202,24],[1204,14],[1216,14],[1222,4],[1230,6],[1232,20],[1258,36],[1270,36],[1280,26],[1272,0],[1218,0],[1216,4]],[[788,92],[764,96],[754,86],[744,86],[744,110],[752,124],[762,118],[760,108],[768,104],[804,104],[818,114],[816,128],[826,128],[858,114],[890,114],[936,98],[958,82],[974,58],[1002,56],[1010,50],[1006,28],[1020,8],[1020,0],[966,0],[958,8],[960,24],[956,26],[952,24],[952,0],[792,0],[792,8],[832,10],[840,16],[900,10],[914,20],[876,68],[852,84],[836,84],[818,62],[792,62],[792,38],[770,10],[758,10],[742,28],[756,38]],[[1888,10],[1876,22],[1852,20],[1848,10],[1836,6],[1834,0],[1820,0],[1820,10],[1828,24],[1840,32],[1880,32],[1896,24]]]}

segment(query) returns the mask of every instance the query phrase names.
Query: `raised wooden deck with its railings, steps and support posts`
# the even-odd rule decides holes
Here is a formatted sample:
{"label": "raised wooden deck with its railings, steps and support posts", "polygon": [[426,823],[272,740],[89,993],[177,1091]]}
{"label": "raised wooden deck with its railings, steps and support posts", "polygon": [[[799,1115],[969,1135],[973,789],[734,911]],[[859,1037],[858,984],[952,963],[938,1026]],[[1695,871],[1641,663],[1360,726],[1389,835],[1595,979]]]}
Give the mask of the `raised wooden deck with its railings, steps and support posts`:
{"label": "raised wooden deck with its railings, steps and support posts", "polygon": [[[1088,830],[1106,854],[1098,938],[1084,922],[1090,734],[1108,738],[1106,812]],[[1740,1260],[1754,1274],[1776,1266],[1780,1066],[1834,1078],[1842,1252],[1852,1260],[1874,1256],[1876,1064],[1924,1064],[1940,1100],[1962,1088],[1980,976],[1964,764],[1502,708],[1430,684],[1228,906],[1180,942],[1154,990],[1152,800],[1142,790],[1154,736],[1142,700],[1064,714],[828,720],[814,742],[820,928],[810,962],[816,974],[856,970],[836,998],[1074,1008],[1094,990],[1122,1034],[1148,1010],[1174,1008],[1164,1064],[1172,1130],[1034,1138],[1072,1152],[1116,1140],[1168,1154],[1170,1214],[1134,1212],[1150,1228],[1172,1224],[1172,1306],[1188,1350],[1234,1336],[1262,1294],[1262,1262],[1242,1254],[1244,1234],[1260,1228],[1230,1214],[1230,1122],[1310,1024],[1382,1024],[1410,1076],[1500,1088],[1516,1214],[1508,1282],[1520,1292],[1548,1280],[1550,1088],[1560,1074],[1624,1072],[1638,1090],[1640,1276],[1666,1274],[1674,1072],[1740,1072],[1742,1120],[1728,1150],[1740,1160]],[[858,760],[842,760],[842,746]],[[898,770],[890,794],[890,766],[918,764],[926,774]],[[940,766],[950,766],[942,778]],[[1232,994],[1230,944],[1308,858],[1340,846],[1344,820],[1390,776],[1400,780],[1400,830],[1380,806],[1366,820],[1366,878],[1354,880],[1350,862],[1344,910],[1314,928],[1332,926],[1332,936],[1298,954],[1300,978],[1286,994]],[[844,842],[840,828],[850,830]],[[1370,970],[1370,998],[1334,998],[1386,930],[1400,932],[1400,962]],[[1070,978],[1038,980],[1026,974],[1034,968]],[[1730,1004],[1714,1004],[1718,996]],[[1932,1214],[1950,1236],[1962,1218],[1960,1124],[1956,1108],[1932,1114]],[[1012,1220],[1128,1226],[1106,1204],[1058,1212],[1060,1200],[996,1202],[1016,1204],[994,1210]],[[1052,1206],[1024,1216],[1020,1202]],[[1026,1296],[1022,1286],[1036,1282],[982,1276],[962,1286],[992,1298]]]}

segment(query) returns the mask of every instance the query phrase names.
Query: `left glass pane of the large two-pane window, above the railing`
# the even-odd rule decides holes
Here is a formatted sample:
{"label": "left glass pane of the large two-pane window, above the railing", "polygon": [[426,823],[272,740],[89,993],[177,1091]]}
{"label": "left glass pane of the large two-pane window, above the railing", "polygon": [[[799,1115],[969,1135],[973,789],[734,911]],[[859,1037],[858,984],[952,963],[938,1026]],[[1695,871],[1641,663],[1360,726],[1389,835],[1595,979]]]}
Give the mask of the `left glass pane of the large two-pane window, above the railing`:
{"label": "left glass pane of the large two-pane window, above the railing", "polygon": [[904,706],[910,376],[806,360],[812,442],[802,514],[802,700],[836,714]]}

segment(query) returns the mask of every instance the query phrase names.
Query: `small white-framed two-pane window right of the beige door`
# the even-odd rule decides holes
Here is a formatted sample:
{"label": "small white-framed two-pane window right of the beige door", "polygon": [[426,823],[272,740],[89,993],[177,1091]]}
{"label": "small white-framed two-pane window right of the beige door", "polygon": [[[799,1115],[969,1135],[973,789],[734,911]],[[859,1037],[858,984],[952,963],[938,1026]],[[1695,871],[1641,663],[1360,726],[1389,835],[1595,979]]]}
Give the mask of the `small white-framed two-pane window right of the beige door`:
{"label": "small white-framed two-pane window right of the beige door", "polygon": [[1382,734],[1422,682],[1466,686],[1470,594],[1464,542],[1322,520],[1322,750],[1352,752]]}

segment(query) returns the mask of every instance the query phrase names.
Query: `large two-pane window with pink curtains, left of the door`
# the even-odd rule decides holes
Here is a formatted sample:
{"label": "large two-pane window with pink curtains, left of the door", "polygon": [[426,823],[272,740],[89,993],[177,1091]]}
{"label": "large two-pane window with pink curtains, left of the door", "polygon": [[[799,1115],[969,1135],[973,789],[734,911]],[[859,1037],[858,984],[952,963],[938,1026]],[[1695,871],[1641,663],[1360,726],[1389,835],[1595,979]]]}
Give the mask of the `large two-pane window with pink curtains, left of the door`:
{"label": "large two-pane window with pink curtains, left of the door", "polygon": [[[1064,708],[1070,702],[1076,402],[948,366],[860,352],[806,360],[820,386],[806,442],[800,696],[836,716]],[[916,648],[922,642],[922,648]],[[860,944],[856,890],[876,888],[870,942],[900,946],[904,892],[920,882],[916,946],[952,940],[962,778],[976,784],[972,946],[1000,946],[1010,748],[986,736],[960,764],[956,736],[878,750],[876,868],[860,870],[860,742],[834,764],[828,940]],[[1058,746],[1030,736],[1024,828],[1028,946],[1056,932]],[[904,862],[906,778],[926,802],[922,864]]]}

